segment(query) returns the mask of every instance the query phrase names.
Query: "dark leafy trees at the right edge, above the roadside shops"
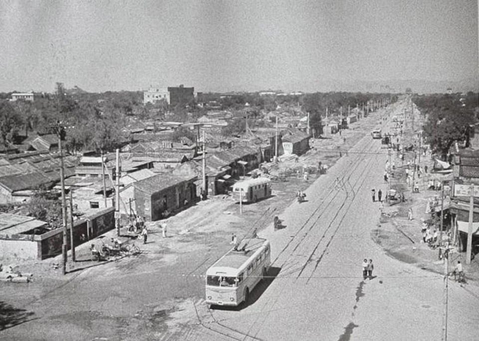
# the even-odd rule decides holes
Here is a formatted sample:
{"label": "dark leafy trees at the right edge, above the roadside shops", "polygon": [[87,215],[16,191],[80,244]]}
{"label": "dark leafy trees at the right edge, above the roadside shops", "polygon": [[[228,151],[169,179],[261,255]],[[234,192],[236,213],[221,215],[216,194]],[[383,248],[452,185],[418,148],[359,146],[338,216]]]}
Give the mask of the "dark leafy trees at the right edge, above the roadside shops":
{"label": "dark leafy trees at the right edge, above the roadside shops", "polygon": [[434,94],[413,97],[422,115],[426,115],[423,137],[433,153],[447,160],[456,143],[470,147],[474,125],[479,118],[479,94]]}

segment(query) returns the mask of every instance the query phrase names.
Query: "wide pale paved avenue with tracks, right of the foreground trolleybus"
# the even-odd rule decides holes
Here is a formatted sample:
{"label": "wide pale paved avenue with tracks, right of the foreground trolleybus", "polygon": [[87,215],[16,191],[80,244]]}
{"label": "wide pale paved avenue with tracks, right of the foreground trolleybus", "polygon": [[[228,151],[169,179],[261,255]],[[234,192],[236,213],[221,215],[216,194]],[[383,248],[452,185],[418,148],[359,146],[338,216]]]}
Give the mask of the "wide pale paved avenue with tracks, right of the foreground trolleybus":
{"label": "wide pale paved avenue with tracks, right of the foreground trolleybus", "polygon": [[[163,340],[441,340],[443,276],[389,257],[370,237],[379,223],[371,188],[386,191],[380,143],[365,136],[308,188],[307,202],[281,214],[286,228],[259,233],[271,241],[277,276],[249,306],[210,310],[196,302],[196,316]],[[364,258],[375,264],[372,280],[362,278]],[[477,305],[450,283],[449,340],[478,339]]]}

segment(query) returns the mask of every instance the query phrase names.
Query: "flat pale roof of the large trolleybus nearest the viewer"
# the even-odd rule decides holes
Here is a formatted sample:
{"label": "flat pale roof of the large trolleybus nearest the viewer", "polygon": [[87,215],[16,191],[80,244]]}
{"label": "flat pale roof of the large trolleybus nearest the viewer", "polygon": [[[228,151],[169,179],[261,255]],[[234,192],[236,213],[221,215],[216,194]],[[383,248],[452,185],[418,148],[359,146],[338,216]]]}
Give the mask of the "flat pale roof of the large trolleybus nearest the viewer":
{"label": "flat pale roof of the large trolleybus nearest the viewer", "polygon": [[[233,249],[228,251],[207,270],[207,275],[216,275],[217,272],[224,272],[227,275],[235,276],[241,265],[243,265],[255,251],[267,244],[269,243],[264,238],[243,239],[238,246],[238,250],[241,251],[235,251]],[[246,245],[244,250],[242,250],[243,245]]]}

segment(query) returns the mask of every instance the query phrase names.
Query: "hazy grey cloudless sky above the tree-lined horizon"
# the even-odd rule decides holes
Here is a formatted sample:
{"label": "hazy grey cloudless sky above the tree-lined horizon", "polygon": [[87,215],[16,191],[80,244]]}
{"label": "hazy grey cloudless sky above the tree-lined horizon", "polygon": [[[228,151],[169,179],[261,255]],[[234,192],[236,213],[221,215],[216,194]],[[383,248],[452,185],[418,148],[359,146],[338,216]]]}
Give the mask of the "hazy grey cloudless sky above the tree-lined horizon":
{"label": "hazy grey cloudless sky above the tree-lined horizon", "polygon": [[0,0],[0,91],[478,75],[477,0]]}

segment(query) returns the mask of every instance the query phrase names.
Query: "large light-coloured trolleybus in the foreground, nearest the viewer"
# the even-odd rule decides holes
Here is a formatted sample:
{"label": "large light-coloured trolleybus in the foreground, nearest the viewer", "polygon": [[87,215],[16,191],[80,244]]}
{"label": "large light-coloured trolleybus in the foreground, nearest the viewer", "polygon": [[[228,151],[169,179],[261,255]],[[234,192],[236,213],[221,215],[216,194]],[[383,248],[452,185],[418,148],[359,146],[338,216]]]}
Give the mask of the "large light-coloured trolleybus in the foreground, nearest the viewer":
{"label": "large light-coloured trolleybus in the foreground, nearest the viewer", "polygon": [[245,238],[206,271],[206,303],[239,306],[263,279],[271,265],[269,241]]}

